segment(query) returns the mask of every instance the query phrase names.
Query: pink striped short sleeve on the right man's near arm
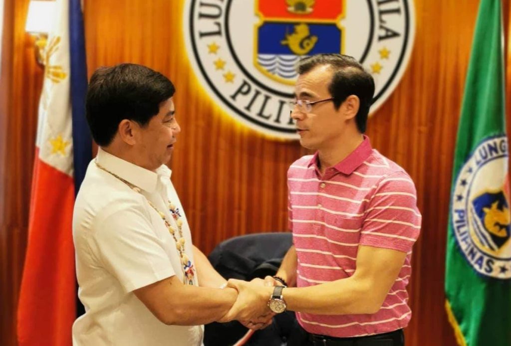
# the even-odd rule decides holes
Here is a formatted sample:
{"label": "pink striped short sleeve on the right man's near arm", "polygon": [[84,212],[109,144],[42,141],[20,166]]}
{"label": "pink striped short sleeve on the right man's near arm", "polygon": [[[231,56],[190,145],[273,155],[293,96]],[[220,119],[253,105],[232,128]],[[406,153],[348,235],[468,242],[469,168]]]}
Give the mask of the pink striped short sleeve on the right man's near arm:
{"label": "pink striped short sleeve on the right man's near arm", "polygon": [[402,171],[382,179],[366,209],[360,244],[408,253],[420,230],[421,213],[411,178]]}

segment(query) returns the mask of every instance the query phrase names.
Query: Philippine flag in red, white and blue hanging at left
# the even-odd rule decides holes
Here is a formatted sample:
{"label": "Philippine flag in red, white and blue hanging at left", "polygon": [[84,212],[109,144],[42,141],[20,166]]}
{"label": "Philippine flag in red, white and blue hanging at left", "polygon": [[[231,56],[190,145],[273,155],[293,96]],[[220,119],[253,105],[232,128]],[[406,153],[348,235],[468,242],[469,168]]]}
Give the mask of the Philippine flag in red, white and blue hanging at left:
{"label": "Philippine flag in red, white and blue hanging at left", "polygon": [[29,235],[18,304],[18,342],[71,345],[76,319],[72,237],[75,192],[91,160],[80,0],[57,0],[43,55]]}

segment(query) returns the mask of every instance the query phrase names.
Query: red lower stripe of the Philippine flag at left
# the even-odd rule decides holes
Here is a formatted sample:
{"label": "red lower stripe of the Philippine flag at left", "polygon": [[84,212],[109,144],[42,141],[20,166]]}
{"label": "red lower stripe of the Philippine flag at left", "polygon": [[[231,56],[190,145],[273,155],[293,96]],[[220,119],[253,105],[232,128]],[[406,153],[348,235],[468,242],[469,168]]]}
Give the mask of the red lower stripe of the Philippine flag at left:
{"label": "red lower stripe of the Philippine flag at left", "polygon": [[68,346],[76,318],[74,181],[41,161],[37,149],[36,154],[18,342],[20,346]]}

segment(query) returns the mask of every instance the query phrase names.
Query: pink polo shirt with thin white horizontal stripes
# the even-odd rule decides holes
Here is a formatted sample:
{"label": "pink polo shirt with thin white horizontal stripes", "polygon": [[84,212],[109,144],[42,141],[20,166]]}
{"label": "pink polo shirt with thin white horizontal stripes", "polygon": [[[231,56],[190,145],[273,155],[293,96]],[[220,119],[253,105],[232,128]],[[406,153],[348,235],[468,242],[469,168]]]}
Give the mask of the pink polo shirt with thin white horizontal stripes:
{"label": "pink polo shirt with thin white horizontal stripes", "polygon": [[391,332],[408,325],[406,286],[421,214],[415,186],[396,163],[371,147],[369,138],[321,176],[317,153],[288,171],[289,227],[298,257],[297,287],[344,279],[356,269],[359,245],[407,254],[396,282],[375,314],[316,315],[298,312],[310,333],[352,337]]}

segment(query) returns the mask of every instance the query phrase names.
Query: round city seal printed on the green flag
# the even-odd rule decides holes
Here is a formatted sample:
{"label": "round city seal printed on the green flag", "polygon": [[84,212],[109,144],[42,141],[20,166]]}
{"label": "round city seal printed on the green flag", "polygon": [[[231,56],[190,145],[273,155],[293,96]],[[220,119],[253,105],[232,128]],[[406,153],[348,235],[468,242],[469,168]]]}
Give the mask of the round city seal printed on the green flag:
{"label": "round city seal printed on the green flag", "polygon": [[464,257],[480,274],[511,278],[507,137],[486,138],[464,163],[454,185],[451,219]]}

